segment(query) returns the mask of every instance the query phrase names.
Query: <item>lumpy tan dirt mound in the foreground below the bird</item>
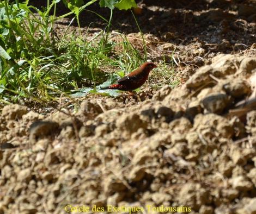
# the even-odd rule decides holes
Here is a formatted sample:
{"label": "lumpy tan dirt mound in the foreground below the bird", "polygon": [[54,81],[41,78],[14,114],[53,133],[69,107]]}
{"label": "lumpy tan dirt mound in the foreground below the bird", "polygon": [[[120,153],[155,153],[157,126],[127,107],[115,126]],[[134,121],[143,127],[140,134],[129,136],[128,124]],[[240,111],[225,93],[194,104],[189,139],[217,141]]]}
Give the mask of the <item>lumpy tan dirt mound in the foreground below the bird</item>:
{"label": "lumpy tan dirt mound in the foreground below the bird", "polygon": [[91,98],[72,116],[5,106],[0,211],[255,213],[255,78],[256,58],[218,55],[182,87],[136,105]]}

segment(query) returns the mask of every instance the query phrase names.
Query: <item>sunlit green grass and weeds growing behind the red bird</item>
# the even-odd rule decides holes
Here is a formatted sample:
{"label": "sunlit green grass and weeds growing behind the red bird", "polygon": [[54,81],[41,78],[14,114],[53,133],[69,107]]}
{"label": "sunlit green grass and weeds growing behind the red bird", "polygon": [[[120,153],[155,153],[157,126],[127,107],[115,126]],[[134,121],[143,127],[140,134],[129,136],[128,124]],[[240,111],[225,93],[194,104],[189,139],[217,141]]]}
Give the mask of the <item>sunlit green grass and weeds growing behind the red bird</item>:
{"label": "sunlit green grass and weeds growing behind the red bird", "polygon": [[[147,59],[145,42],[144,53],[140,53],[123,34],[115,33],[118,42],[109,39],[113,36],[109,33],[112,13],[106,29],[94,37],[82,35],[80,27],[77,36],[70,32],[70,25],[63,35],[57,35],[53,30],[57,3],[47,3],[47,8],[39,10],[28,1],[0,2],[0,102],[54,100],[87,88],[97,92],[97,86],[113,71],[125,75],[120,71],[130,72]],[[79,26],[78,14],[75,17]],[[173,75],[167,67],[158,69],[164,78]]]}

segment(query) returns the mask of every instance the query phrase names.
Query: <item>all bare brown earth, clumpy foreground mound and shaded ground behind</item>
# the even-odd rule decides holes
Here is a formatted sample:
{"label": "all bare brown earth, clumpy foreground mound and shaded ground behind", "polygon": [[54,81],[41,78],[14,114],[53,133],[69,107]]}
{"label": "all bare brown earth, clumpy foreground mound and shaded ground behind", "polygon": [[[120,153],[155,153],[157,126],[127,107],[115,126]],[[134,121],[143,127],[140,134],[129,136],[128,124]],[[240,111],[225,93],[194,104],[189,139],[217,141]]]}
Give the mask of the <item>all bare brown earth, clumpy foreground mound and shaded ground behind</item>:
{"label": "all bare brown earth, clumpy foreground mound and shaded ground behind", "polygon": [[[154,90],[152,77],[141,101],[88,96],[42,109],[5,106],[0,213],[64,213],[66,205],[256,213],[255,2],[155,2],[139,3],[137,15],[149,58],[168,61],[174,52],[181,84]],[[84,17],[84,32],[93,20],[91,34],[106,26]],[[113,20],[142,49],[132,15],[117,11]]]}

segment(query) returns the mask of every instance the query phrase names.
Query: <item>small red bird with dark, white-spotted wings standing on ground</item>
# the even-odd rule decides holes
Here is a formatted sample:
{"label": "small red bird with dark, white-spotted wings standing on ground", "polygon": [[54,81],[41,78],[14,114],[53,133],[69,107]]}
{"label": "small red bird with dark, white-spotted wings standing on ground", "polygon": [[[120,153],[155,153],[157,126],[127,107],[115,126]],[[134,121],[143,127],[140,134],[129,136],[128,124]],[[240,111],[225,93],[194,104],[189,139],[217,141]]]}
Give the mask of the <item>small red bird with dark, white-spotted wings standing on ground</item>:
{"label": "small red bird with dark, white-spotted wings standing on ground", "polygon": [[132,92],[141,87],[149,77],[149,72],[157,66],[153,62],[146,62],[135,71],[129,73],[117,81],[117,84],[109,85],[101,89],[117,89]]}

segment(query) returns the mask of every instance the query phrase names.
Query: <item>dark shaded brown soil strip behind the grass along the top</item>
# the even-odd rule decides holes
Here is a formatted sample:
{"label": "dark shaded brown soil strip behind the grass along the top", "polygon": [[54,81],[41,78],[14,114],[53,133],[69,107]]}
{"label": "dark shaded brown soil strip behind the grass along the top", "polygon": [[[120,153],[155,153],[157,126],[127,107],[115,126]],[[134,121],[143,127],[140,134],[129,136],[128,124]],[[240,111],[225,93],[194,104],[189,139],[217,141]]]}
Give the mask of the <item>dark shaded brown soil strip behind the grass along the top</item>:
{"label": "dark shaded brown soil strip behind the grass along the top", "polygon": [[[45,7],[46,1],[31,1],[36,7]],[[255,42],[256,33],[256,3],[255,1],[137,1],[142,8],[141,14],[136,14],[142,32],[158,36],[164,42],[187,45],[191,41],[203,43],[223,43],[218,52],[246,49]],[[109,18],[109,9],[100,8],[96,2],[88,10]],[[57,15],[69,12],[63,3],[57,7]],[[69,16],[69,20],[74,15]],[[59,22],[60,24],[62,21]],[[76,22],[72,23],[74,26]],[[83,11],[80,16],[81,27],[105,28],[106,22],[93,12]],[[138,27],[130,10],[115,9],[112,18],[112,30],[120,33],[136,33]],[[232,47],[242,43],[242,46]],[[247,47],[246,47],[247,46]],[[214,50],[211,50],[214,51]]]}

